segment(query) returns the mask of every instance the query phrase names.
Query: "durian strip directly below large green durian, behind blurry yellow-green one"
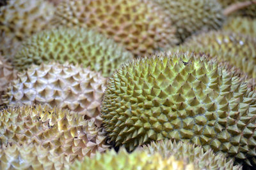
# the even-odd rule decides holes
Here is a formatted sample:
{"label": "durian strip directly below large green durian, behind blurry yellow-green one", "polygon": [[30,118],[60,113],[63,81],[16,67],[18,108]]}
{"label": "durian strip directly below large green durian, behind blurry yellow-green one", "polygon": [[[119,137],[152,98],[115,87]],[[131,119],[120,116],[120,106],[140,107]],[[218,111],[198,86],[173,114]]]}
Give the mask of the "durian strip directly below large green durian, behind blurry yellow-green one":
{"label": "durian strip directly below large green durian, behind blurry yellow-green one", "polygon": [[160,153],[163,157],[173,156],[175,159],[188,159],[190,164],[197,164],[200,169],[242,169],[241,166],[234,166],[232,160],[227,160],[221,153],[214,154],[212,150],[204,152],[202,146],[195,146],[191,143],[183,143],[172,140],[151,142],[144,145],[141,150],[147,150],[150,154]]}

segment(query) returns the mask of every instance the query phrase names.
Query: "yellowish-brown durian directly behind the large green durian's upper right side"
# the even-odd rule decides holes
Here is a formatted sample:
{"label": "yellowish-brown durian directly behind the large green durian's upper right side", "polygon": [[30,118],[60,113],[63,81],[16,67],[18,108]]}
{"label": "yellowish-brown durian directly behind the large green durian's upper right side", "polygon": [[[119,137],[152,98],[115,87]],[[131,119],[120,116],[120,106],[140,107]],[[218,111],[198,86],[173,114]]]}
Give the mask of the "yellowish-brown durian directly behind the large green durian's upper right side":
{"label": "yellowish-brown durian directly behind the large green durian's upper right side", "polygon": [[220,62],[230,62],[251,78],[256,78],[255,46],[255,38],[234,32],[212,31],[191,37],[180,49],[216,56]]}

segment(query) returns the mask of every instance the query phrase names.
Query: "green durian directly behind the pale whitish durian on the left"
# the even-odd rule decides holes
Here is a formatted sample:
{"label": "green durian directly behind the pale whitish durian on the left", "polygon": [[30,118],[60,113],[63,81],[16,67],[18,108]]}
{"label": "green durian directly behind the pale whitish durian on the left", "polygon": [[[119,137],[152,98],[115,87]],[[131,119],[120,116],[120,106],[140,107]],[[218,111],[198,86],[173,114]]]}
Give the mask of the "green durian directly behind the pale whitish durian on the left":
{"label": "green durian directly behind the pale whitish durian on the left", "polygon": [[27,41],[13,59],[19,70],[54,60],[64,63],[90,66],[92,71],[101,71],[103,76],[111,76],[123,62],[132,59],[132,53],[119,46],[112,39],[85,29],[51,29],[39,32]]}

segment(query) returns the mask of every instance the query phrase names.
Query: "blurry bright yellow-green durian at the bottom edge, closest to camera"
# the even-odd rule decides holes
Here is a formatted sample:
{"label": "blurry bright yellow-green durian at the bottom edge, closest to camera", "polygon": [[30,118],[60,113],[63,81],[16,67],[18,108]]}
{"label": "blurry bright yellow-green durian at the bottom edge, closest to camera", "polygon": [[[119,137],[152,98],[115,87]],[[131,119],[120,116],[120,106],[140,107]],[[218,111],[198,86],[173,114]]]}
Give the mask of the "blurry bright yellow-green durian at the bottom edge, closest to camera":
{"label": "blurry bright yellow-green durian at the bottom edge, closest to camera", "polygon": [[84,157],[83,162],[76,161],[70,169],[77,170],[194,170],[196,165],[189,164],[186,159],[176,160],[174,157],[163,158],[159,153],[148,154],[146,151],[127,153],[121,148],[118,153],[108,150],[97,153],[93,159]]}

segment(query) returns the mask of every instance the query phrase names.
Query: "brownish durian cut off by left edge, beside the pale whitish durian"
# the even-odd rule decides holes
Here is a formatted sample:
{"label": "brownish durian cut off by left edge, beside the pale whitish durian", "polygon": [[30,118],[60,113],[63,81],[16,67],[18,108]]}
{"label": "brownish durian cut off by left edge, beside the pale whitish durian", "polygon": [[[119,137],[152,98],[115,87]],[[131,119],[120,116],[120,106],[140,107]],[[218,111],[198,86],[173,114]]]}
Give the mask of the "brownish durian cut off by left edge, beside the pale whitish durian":
{"label": "brownish durian cut off by left edge, beside the pale whitish durian", "polygon": [[[0,55],[0,96],[10,81],[17,78],[17,70]],[[3,104],[0,97],[0,105]]]}

